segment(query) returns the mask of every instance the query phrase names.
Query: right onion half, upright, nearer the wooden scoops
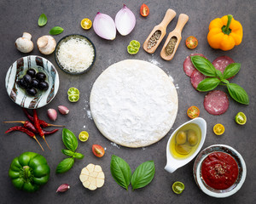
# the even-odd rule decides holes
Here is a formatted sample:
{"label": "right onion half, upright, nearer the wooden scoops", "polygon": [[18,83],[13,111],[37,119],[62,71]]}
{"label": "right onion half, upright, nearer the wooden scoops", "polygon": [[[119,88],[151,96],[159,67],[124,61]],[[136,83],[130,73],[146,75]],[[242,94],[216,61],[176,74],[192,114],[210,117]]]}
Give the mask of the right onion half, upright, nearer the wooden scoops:
{"label": "right onion half, upright, nearer the wooden scoops", "polygon": [[116,29],[122,36],[128,35],[136,24],[135,15],[125,6],[125,4],[124,7],[115,15],[114,21]]}

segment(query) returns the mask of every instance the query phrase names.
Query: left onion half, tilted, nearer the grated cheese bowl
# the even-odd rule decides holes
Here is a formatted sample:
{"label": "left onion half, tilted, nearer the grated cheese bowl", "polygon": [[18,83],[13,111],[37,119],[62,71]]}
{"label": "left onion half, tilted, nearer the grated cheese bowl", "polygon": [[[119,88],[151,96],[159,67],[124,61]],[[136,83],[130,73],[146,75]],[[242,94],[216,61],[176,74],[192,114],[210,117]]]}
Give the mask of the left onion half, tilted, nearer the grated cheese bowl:
{"label": "left onion half, tilted, nearer the grated cheese bowl", "polygon": [[98,12],[93,20],[93,30],[99,37],[113,40],[116,36],[116,28],[113,19],[108,14]]}

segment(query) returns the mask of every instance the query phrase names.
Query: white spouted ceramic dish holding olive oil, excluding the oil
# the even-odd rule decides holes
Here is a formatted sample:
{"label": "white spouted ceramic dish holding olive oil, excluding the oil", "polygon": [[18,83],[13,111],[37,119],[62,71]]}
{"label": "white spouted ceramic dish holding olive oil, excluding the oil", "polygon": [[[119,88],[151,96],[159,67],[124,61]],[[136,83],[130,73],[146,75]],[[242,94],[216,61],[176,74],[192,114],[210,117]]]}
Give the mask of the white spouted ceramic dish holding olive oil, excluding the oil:
{"label": "white spouted ceramic dish holding olive oil, excluding the oil", "polygon": [[[170,152],[170,142],[172,140],[172,137],[174,137],[175,134],[177,133],[177,131],[181,127],[183,127],[184,125],[189,124],[189,123],[195,123],[201,128],[200,144],[197,147],[197,150],[195,150],[193,155],[191,155],[185,159],[176,159],[172,156],[172,154]],[[166,146],[166,159],[167,159],[167,163],[166,163],[166,167],[165,167],[166,171],[169,173],[173,173],[175,170],[177,170],[177,168],[183,167],[185,164],[189,163],[189,161],[191,161],[197,155],[197,153],[201,150],[201,147],[205,142],[206,135],[207,135],[207,122],[201,117],[196,117],[195,119],[193,119],[189,122],[183,123],[180,127],[177,127],[177,129],[172,133],[170,139],[168,140],[167,146]]]}

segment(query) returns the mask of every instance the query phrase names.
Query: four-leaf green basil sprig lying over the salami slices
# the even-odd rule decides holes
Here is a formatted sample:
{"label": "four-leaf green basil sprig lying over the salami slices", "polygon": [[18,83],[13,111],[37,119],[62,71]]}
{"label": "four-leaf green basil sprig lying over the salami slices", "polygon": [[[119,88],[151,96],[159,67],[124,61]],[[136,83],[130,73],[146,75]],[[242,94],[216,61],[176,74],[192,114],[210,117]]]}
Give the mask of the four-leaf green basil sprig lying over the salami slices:
{"label": "four-leaf green basil sprig lying over the salami slices", "polygon": [[198,91],[207,92],[217,88],[218,85],[224,85],[228,88],[232,99],[235,99],[238,103],[244,105],[249,104],[247,92],[236,83],[230,83],[227,80],[230,77],[234,77],[240,71],[240,63],[232,63],[227,65],[224,73],[222,73],[221,71],[215,69],[208,59],[197,55],[191,56],[190,58],[195,68],[203,75],[208,77],[198,84],[198,87],[196,88]]}

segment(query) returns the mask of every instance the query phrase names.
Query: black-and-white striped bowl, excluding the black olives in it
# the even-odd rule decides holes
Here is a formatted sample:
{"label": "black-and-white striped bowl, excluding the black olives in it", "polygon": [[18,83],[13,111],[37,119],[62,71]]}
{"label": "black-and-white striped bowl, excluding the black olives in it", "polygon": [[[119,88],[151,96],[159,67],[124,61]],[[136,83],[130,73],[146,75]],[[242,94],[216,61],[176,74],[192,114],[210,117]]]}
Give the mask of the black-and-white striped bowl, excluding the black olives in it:
{"label": "black-and-white striped bowl, excluding the black olives in it", "polygon": [[[20,88],[18,80],[26,74],[26,71],[32,68],[34,70],[42,71],[46,75],[46,82],[49,83],[49,88],[46,91],[38,91],[36,96],[26,94],[24,88]],[[10,99],[17,105],[28,109],[37,109],[49,104],[55,98],[59,89],[59,75],[55,66],[43,57],[30,55],[20,58],[9,67],[5,77],[5,87]]]}

